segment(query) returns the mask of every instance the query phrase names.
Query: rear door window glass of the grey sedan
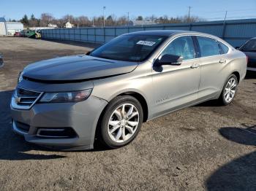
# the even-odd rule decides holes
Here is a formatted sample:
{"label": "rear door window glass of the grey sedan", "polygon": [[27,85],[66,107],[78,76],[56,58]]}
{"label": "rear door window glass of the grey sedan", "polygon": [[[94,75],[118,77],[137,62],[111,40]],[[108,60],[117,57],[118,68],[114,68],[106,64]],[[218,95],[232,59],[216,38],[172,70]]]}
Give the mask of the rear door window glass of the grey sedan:
{"label": "rear door window glass of the grey sedan", "polygon": [[201,57],[220,55],[219,44],[216,40],[203,36],[197,36],[197,41],[199,43]]}

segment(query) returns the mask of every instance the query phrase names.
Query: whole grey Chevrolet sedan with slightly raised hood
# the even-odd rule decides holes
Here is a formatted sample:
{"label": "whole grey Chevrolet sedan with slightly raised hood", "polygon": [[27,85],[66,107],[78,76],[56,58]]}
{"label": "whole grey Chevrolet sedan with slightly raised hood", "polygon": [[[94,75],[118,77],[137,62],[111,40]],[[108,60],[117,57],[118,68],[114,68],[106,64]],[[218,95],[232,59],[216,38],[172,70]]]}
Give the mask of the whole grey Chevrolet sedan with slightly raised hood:
{"label": "whole grey Chevrolet sedan with slightly raised hood", "polygon": [[95,139],[122,147],[163,114],[212,99],[230,104],[245,74],[246,55],[210,34],[124,34],[87,55],[26,66],[12,128],[47,147],[91,149]]}

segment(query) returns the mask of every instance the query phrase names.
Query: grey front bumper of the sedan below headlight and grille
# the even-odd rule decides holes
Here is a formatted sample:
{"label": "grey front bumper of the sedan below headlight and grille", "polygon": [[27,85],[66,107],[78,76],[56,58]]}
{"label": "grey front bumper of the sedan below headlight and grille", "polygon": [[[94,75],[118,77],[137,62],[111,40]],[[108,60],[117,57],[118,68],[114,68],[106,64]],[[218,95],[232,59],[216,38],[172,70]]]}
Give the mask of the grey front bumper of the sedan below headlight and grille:
{"label": "grey front bumper of the sedan below headlight and grille", "polygon": [[[78,103],[34,104],[31,109],[15,109],[11,103],[12,130],[26,141],[58,149],[92,149],[99,115],[108,104],[107,101],[91,95],[86,101]],[[19,128],[24,124],[27,129]],[[52,138],[38,136],[42,128],[72,128],[76,136]]]}

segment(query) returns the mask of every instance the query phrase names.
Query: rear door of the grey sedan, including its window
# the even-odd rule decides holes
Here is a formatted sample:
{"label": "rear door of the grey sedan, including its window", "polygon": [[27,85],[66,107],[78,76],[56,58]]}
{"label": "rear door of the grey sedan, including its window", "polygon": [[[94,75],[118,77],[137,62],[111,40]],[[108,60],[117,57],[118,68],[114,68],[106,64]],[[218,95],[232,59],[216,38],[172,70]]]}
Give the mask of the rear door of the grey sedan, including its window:
{"label": "rear door of the grey sedan, including its window", "polygon": [[216,96],[222,90],[227,74],[228,58],[216,39],[196,36],[200,55],[201,79],[198,98],[204,100]]}

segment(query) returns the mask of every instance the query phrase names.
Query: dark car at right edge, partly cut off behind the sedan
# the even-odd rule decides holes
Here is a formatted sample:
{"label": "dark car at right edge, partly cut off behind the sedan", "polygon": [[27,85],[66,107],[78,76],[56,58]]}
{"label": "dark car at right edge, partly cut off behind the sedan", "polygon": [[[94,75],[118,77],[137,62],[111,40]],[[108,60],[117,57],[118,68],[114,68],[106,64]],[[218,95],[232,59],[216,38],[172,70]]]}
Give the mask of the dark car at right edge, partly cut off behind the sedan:
{"label": "dark car at right edge, partly cut off behind the sedan", "polygon": [[249,39],[241,47],[237,47],[238,50],[244,52],[248,58],[247,70],[256,71],[256,37]]}

